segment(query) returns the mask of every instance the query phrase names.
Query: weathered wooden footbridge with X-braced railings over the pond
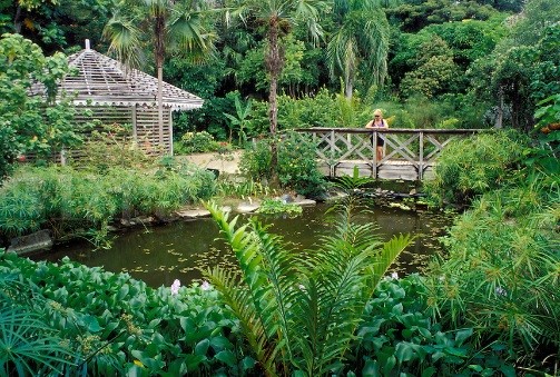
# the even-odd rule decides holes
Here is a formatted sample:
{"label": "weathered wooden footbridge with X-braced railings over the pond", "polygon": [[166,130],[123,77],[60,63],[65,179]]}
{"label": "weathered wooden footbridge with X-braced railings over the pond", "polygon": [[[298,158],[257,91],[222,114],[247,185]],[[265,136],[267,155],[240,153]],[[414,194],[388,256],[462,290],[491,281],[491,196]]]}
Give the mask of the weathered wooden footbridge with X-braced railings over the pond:
{"label": "weathered wooden footbridge with X-braced railings over the pond", "polygon": [[[488,130],[315,127],[296,131],[310,135],[317,145],[320,169],[326,176],[350,176],[357,167],[360,176],[374,179],[422,180],[433,177],[435,160],[451,140]],[[385,141],[379,161],[377,137]]]}

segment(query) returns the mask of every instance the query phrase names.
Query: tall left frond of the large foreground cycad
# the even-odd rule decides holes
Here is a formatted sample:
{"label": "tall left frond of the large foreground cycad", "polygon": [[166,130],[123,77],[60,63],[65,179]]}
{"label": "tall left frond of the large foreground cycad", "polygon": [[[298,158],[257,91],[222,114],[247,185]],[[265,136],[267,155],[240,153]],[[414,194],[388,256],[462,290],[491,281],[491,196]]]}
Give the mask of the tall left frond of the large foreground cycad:
{"label": "tall left frond of the large foreground cycad", "polygon": [[[242,308],[237,308],[238,314],[235,314],[243,316],[239,319],[243,318],[246,323],[244,326],[247,330],[258,330],[258,336],[249,344],[257,360],[268,370],[281,348],[286,347],[288,354],[291,350],[288,331],[292,319],[288,308],[293,306],[292,254],[279,246],[277,236],[268,235],[266,228],[257,221],[235,229],[238,218],[229,221],[228,216],[215,204],[207,204],[206,207],[232,246],[240,268],[239,279],[217,280],[218,290],[227,292],[227,305],[233,305],[229,300],[243,298],[243,305],[250,307],[250,315],[244,314]],[[216,279],[216,276],[208,277]],[[240,281],[244,288],[240,288]],[[244,294],[238,297],[233,294],[235,291]]]}

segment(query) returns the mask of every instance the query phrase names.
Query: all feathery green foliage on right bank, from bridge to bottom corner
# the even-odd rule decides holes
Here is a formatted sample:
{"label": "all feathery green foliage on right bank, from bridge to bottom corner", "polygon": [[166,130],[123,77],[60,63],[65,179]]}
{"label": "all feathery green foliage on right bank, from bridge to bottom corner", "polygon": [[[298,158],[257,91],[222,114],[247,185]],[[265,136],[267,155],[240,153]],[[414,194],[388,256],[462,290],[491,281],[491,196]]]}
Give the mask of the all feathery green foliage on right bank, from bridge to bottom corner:
{"label": "all feathery green foliage on right bank, from bridge to bottom corner", "polygon": [[[551,105],[537,113],[546,122],[558,115]],[[518,366],[549,373],[560,355],[558,133],[532,146],[511,132],[484,135],[445,150],[431,190],[473,201],[426,278],[436,318],[473,327],[478,344],[501,344]]]}

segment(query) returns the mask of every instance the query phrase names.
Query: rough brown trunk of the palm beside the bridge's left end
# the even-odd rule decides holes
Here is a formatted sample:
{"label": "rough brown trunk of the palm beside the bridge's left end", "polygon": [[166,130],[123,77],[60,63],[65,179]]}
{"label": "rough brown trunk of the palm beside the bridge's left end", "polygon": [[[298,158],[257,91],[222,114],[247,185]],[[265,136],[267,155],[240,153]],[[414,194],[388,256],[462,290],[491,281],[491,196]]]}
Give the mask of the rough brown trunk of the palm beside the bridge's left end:
{"label": "rough brown trunk of the palm beside the bridge's left end", "polygon": [[268,95],[268,119],[271,121],[271,180],[272,185],[278,186],[278,145],[276,138],[276,129],[278,126],[278,103],[277,103],[277,89],[278,77],[284,66],[281,48],[278,44],[279,24],[278,17],[274,16],[269,19],[268,30],[268,51],[266,54],[266,68],[271,75],[271,89]]}

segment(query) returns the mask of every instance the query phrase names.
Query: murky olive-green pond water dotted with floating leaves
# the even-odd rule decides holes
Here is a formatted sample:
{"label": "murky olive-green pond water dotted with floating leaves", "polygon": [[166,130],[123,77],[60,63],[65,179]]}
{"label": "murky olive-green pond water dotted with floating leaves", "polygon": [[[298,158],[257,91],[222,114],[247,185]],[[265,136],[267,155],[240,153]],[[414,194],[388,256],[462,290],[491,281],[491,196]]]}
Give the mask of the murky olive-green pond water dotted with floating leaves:
{"label": "murky olive-green pond water dotted with floating leaves", "polygon": [[[323,235],[332,231],[325,211],[326,204],[304,207],[296,218],[259,216],[269,225],[269,232],[281,235],[294,250],[313,249]],[[421,270],[431,255],[441,250],[438,237],[444,234],[451,218],[441,212],[411,211],[375,206],[362,214],[358,221],[373,222],[372,231],[381,240],[393,235],[411,234],[415,240],[403,252],[395,269],[401,272]],[[248,219],[249,216],[242,216]],[[36,255],[35,260],[58,261],[65,256],[86,266],[102,266],[112,272],[128,272],[151,287],[170,286],[175,279],[183,285],[202,278],[200,268],[233,264],[228,248],[218,238],[213,219],[177,221],[166,226],[140,228],[121,232],[110,249],[94,250],[87,242],[58,245]]]}

